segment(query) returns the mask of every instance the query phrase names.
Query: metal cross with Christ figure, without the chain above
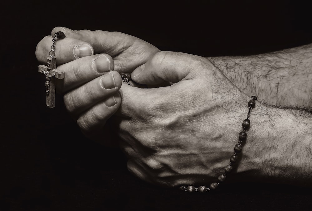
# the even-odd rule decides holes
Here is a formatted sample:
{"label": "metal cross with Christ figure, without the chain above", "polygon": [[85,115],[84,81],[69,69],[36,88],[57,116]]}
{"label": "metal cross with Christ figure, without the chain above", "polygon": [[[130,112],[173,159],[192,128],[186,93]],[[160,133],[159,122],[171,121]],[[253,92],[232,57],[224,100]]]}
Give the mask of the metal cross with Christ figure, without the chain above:
{"label": "metal cross with Christ figure, without the chain above", "polygon": [[46,76],[46,106],[53,108],[55,104],[55,78],[63,79],[65,73],[56,69],[56,58],[48,57],[46,65],[39,65],[38,72]]}

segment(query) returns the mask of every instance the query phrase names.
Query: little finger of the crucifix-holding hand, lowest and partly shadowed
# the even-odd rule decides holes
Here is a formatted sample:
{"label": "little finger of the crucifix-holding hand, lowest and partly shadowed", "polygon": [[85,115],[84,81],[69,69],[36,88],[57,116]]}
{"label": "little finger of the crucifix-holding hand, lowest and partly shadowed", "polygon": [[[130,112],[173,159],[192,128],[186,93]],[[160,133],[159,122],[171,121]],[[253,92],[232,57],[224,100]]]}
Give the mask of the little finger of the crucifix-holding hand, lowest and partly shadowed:
{"label": "little finger of the crucifix-holding hand, lowest and partly shadowed", "polygon": [[121,98],[119,93],[106,98],[95,104],[92,108],[83,113],[77,120],[81,131],[87,136],[96,136],[103,129],[106,121],[119,108]]}

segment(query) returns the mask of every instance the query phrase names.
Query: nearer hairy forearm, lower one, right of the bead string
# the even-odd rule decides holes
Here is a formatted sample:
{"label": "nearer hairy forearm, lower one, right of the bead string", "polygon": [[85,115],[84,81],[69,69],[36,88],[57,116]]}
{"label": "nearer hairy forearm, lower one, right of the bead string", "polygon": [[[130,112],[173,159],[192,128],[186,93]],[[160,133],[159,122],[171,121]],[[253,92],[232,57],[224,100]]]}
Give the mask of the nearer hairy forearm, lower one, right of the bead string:
{"label": "nearer hairy forearm, lower one, right of the bead string", "polygon": [[259,102],[251,115],[240,168],[254,170],[259,180],[311,185],[312,110]]}

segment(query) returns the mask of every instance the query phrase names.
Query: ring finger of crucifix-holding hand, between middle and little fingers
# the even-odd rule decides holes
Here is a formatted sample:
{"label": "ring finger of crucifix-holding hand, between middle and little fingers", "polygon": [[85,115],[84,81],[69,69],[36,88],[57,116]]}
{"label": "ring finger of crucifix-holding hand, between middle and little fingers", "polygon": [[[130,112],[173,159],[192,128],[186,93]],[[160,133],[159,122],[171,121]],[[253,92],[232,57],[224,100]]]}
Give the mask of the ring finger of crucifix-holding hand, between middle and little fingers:
{"label": "ring finger of crucifix-holding hand, between middle and little fingers", "polygon": [[66,108],[73,115],[79,114],[117,92],[121,83],[121,77],[116,71],[95,78],[64,95]]}

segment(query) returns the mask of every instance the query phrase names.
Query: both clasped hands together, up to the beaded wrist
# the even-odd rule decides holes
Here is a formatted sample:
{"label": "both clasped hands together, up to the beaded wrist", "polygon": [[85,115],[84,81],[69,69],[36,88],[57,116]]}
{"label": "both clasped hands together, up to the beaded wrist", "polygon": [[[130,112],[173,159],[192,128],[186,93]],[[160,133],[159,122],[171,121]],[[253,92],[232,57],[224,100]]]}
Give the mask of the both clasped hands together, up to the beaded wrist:
{"label": "both clasped hands together, up to the beaded wrist", "polygon": [[[150,183],[204,185],[224,172],[251,98],[208,59],[119,32],[56,27],[51,34],[58,31],[66,36],[56,41],[57,69],[65,72],[58,91],[87,137],[106,144],[105,128],[115,128],[128,169]],[[51,36],[38,43],[40,63],[51,44]],[[122,82],[122,72],[135,83]]]}

